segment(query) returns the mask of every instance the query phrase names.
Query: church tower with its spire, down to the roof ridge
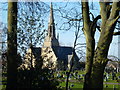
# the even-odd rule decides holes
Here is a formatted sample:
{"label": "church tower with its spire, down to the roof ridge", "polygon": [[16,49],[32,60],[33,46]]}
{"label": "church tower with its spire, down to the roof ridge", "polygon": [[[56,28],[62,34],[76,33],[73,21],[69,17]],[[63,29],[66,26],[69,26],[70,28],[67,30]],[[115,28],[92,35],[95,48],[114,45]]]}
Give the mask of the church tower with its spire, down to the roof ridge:
{"label": "church tower with its spire, down to the roof ridge", "polygon": [[55,34],[55,23],[54,23],[54,16],[53,16],[53,5],[50,5],[50,17],[48,22],[48,34],[45,37],[45,41],[43,47],[52,47],[52,46],[59,46],[59,42],[56,39]]}

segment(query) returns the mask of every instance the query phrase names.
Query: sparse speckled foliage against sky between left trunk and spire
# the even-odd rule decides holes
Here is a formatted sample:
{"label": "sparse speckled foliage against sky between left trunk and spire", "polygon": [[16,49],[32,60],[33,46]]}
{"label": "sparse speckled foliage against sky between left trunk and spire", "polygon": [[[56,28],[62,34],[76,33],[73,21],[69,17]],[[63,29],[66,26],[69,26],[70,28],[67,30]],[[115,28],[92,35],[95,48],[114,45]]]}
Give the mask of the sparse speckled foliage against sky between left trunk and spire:
{"label": "sparse speckled foliage against sky between left trunk and spire", "polygon": [[48,5],[43,2],[19,2],[17,17],[18,52],[25,54],[30,44],[40,46],[45,35],[44,18]]}

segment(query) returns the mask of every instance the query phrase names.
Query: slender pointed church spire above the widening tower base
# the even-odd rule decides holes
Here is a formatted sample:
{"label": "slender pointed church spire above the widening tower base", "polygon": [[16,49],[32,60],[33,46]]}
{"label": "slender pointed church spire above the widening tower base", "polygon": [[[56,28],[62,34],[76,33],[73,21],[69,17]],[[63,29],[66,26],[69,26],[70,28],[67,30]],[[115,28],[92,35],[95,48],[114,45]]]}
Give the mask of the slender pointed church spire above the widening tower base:
{"label": "slender pointed church spire above the widening tower base", "polygon": [[53,5],[51,2],[50,5],[50,17],[49,17],[49,24],[48,24],[48,35],[49,37],[55,38],[55,24],[54,24],[54,17],[53,17]]}

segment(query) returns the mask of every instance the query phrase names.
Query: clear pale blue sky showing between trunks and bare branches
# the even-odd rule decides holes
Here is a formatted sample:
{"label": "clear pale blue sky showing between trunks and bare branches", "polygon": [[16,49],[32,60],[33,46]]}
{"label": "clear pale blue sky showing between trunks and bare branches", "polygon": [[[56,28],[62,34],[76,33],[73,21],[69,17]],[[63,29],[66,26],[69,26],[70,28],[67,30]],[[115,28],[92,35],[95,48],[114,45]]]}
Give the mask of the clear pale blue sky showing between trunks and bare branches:
{"label": "clear pale blue sky showing between trunks and bare branches", "polygon": [[[48,5],[50,4],[49,2],[46,2],[46,3]],[[90,3],[90,4],[92,4],[92,3]],[[71,13],[69,12],[69,15],[74,13],[74,10],[75,10],[74,5],[76,5],[76,8],[77,8],[76,10],[78,12],[81,12],[80,5],[77,2],[71,2],[66,7],[66,10],[71,10],[70,8],[73,8],[71,10]],[[1,3],[0,3],[0,6],[1,6]],[[59,3],[54,2],[53,3],[54,19],[55,19],[55,24],[56,24],[56,36],[59,34],[60,45],[62,45],[62,46],[72,46],[73,47],[73,43],[74,43],[74,39],[75,39],[75,28],[72,27],[70,30],[67,30],[67,31],[66,30],[60,30],[60,26],[62,25],[63,21],[67,22],[67,19],[61,19],[60,14],[58,13],[57,9],[60,7],[61,10],[63,10],[65,6],[66,6],[65,2],[64,3],[63,2],[59,2]],[[93,10],[91,10],[91,12],[93,12],[95,16],[97,16],[99,14],[99,4],[98,4],[98,2],[95,2],[93,4],[93,7],[90,7],[90,8],[93,9]],[[5,23],[7,23],[7,11],[3,11],[3,10],[0,9],[0,13],[1,12],[2,12],[2,15],[0,15],[0,21],[4,21]],[[73,17],[75,17],[75,16],[73,15]],[[46,24],[45,24],[46,29],[48,27],[48,18],[49,18],[49,14],[48,14],[48,17],[45,18],[45,20],[46,20]],[[78,23],[78,22],[76,22],[76,23]],[[66,25],[66,27],[67,27],[67,25]],[[82,34],[82,33],[83,32],[80,31],[80,34]],[[99,39],[99,35],[100,35],[100,33],[97,31],[96,35],[95,35],[96,43],[97,43],[97,41]],[[78,39],[78,43],[85,43],[84,35],[80,36],[80,38]],[[85,51],[85,48],[82,48],[82,50]],[[118,36],[113,37],[113,41],[112,41],[112,43],[110,45],[110,49],[109,49],[109,55],[114,55],[114,56],[118,57]]]}

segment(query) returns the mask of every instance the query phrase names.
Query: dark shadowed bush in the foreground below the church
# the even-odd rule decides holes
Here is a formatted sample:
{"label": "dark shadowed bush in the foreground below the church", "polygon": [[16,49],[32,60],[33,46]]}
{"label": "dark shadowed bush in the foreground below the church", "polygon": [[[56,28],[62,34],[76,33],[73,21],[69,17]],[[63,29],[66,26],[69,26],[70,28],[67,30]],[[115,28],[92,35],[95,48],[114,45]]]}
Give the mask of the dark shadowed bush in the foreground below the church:
{"label": "dark shadowed bush in the foreground below the church", "polygon": [[18,89],[57,89],[58,81],[54,79],[49,69],[25,69],[18,72]]}

